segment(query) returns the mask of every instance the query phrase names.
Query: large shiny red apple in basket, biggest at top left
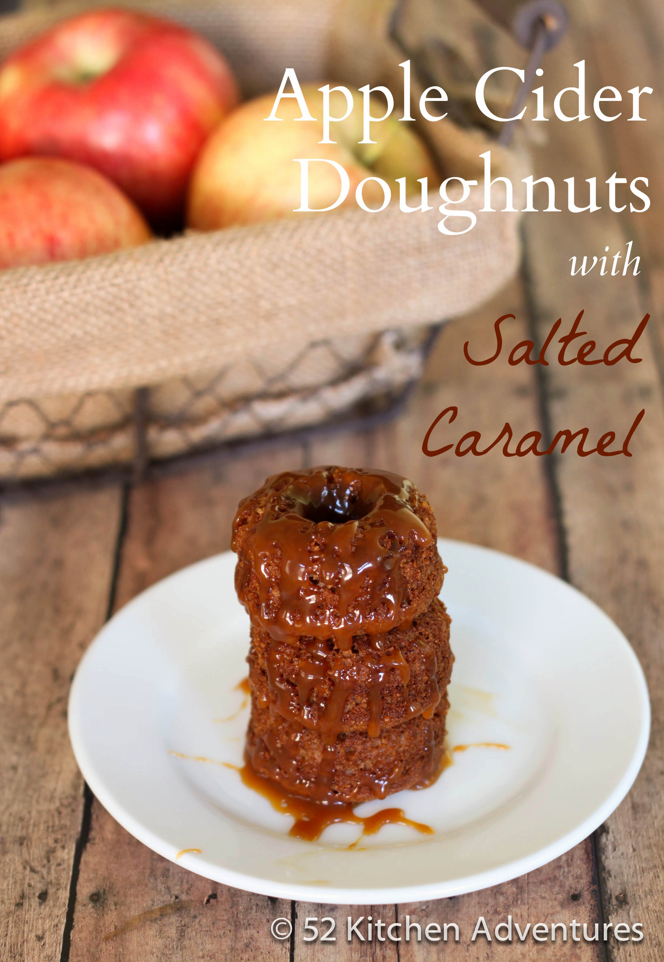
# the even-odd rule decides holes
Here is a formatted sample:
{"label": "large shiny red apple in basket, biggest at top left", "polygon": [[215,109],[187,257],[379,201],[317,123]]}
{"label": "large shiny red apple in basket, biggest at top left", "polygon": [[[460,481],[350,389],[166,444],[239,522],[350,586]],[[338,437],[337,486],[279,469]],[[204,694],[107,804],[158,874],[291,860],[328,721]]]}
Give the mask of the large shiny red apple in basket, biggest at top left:
{"label": "large shiny red apple in basket, biggest at top left", "polygon": [[126,10],[83,13],[0,68],[0,160],[91,165],[172,227],[202,144],[237,99],[224,58],[184,27]]}

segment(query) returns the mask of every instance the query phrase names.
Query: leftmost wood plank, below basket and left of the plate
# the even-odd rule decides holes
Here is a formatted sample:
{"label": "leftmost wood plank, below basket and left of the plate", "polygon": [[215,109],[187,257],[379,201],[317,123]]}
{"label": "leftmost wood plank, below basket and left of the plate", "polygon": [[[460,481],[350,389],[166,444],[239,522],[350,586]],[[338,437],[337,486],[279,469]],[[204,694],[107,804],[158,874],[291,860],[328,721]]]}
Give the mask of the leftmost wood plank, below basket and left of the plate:
{"label": "leftmost wood plank, below basket and left of the plate", "polygon": [[84,809],[66,727],[71,676],[106,617],[120,492],[0,501],[0,956],[61,957]]}

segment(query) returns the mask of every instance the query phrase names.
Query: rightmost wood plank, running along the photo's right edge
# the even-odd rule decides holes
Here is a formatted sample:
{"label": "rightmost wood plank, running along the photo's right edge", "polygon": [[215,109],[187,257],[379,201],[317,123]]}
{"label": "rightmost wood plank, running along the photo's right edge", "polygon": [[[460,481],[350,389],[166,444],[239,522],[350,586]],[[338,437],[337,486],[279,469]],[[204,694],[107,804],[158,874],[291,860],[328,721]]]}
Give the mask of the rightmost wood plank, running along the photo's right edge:
{"label": "rightmost wood plank, running along the photo's right edge", "polygon": [[[597,30],[597,16],[593,19],[590,13],[589,29]],[[601,15],[610,21],[604,8]],[[611,29],[622,38],[620,20]],[[571,64],[588,55],[582,36],[554,51],[547,61],[551,89],[566,86],[576,73]],[[633,63],[631,68],[633,71]],[[640,76],[634,79],[634,83],[640,81]],[[584,177],[597,176],[602,184],[615,169],[605,158],[604,126],[598,120],[557,124],[538,159],[540,174],[565,170],[574,172],[581,183]],[[638,126],[620,118],[615,121],[613,136],[637,136],[630,128]],[[650,175],[653,183],[659,161],[649,170],[646,158],[639,167],[630,170],[630,175]],[[628,223],[630,230],[636,230],[638,215],[630,215]],[[569,324],[581,308],[586,309],[584,329],[604,345],[633,333],[644,313],[640,279],[601,277],[594,272],[572,278],[565,269],[574,255],[600,256],[606,245],[611,252],[624,245],[623,225],[608,212],[605,200],[603,210],[592,215],[539,215],[536,222],[530,215],[526,241],[540,339],[544,339],[555,317],[562,316]],[[649,306],[647,302],[646,308]],[[609,942],[609,958],[620,962],[636,958],[654,962],[662,957],[660,920],[664,911],[664,813],[660,804],[664,738],[664,405],[652,343],[644,337],[638,346],[636,356],[643,358],[638,365],[621,362],[616,367],[579,368],[553,364],[546,372],[555,429],[588,425],[593,438],[607,430],[615,430],[620,437],[636,413],[646,409],[630,445],[630,459],[581,459],[568,453],[555,462],[572,580],[626,631],[647,673],[652,698],[652,740],[644,768],[626,801],[598,833],[605,921],[640,922],[646,932],[641,944]]]}

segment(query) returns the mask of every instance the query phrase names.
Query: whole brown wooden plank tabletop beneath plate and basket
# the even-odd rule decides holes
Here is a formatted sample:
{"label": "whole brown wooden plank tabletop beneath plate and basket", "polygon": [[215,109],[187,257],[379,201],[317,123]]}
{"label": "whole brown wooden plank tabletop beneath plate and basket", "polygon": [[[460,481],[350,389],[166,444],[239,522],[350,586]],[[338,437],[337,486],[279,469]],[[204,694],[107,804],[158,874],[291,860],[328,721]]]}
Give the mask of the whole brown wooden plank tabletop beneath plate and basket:
{"label": "whole brown wooden plank tabletop beneath plate and basket", "polygon": [[[473,316],[450,323],[406,414],[380,429],[284,446],[136,486],[75,483],[0,500],[0,640],[4,772],[1,956],[48,962],[170,962],[175,959],[552,958],[659,962],[664,949],[664,15],[657,0],[584,0],[570,36],[546,62],[545,81],[560,89],[585,58],[589,89],[650,85],[647,123],[591,119],[551,124],[535,151],[538,175],[578,182],[614,170],[650,178],[651,211],[526,215],[520,277]],[[602,201],[600,201],[602,203]],[[575,255],[611,254],[634,241],[638,277],[570,277]],[[510,367],[504,357],[471,367],[469,340],[488,356],[493,322],[513,313],[505,342],[543,341],[556,317],[570,324],[584,308],[600,344],[652,321],[639,342],[641,364],[616,367]],[[507,327],[507,325],[504,325]],[[493,439],[508,420],[517,437],[590,427],[591,438],[625,434],[646,415],[629,458],[426,458],[430,421],[459,409],[455,437],[478,429]],[[93,635],[136,593],[171,571],[229,546],[238,499],[281,468],[321,462],[379,465],[412,477],[430,496],[445,537],[485,544],[569,579],[626,632],[648,675],[652,741],[642,772],[618,810],[577,848],[536,872],[482,892],[426,905],[367,906],[383,920],[453,920],[462,938],[444,949],[402,943],[325,946],[302,941],[315,907],[225,888],[186,872],[136,842],[91,796],[66,730],[72,673]],[[546,617],[546,612],[542,612]],[[454,638],[453,638],[454,642]],[[620,705],[616,706],[620,710]],[[556,942],[524,946],[470,943],[480,915],[495,924],[526,922],[643,924],[640,944]],[[269,931],[277,916],[295,920],[290,941]]]}

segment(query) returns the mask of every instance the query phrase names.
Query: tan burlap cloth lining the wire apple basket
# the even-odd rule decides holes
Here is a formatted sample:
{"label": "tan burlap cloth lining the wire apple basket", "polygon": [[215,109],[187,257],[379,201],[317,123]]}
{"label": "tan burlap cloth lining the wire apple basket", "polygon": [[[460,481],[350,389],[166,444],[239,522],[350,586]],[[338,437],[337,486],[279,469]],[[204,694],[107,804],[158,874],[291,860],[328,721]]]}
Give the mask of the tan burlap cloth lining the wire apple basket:
{"label": "tan burlap cloth lining the wire apple basket", "polygon": [[[229,57],[245,95],[277,88],[286,66],[303,82],[384,83],[396,100],[403,87],[400,52],[386,39],[388,0],[131,6],[159,10],[207,35]],[[72,9],[80,6],[1,20],[0,57]],[[448,176],[479,177],[479,155],[488,146],[495,175],[517,182],[523,176],[517,154],[486,134],[448,118],[421,130]],[[479,211],[481,183],[471,190],[461,206]],[[494,197],[494,206],[503,206],[498,187]],[[164,456],[202,441],[255,434],[269,424],[269,411],[267,420],[251,412],[246,417],[249,409],[238,417],[243,406],[278,402],[283,415],[285,404],[285,426],[293,426],[342,410],[385,379],[407,379],[417,372],[421,325],[473,310],[518,264],[516,215],[479,215],[472,231],[455,238],[438,231],[440,217],[437,208],[404,214],[394,206],[377,215],[355,209],[300,215],[187,233],[86,261],[3,271],[0,476],[131,458],[132,396],[142,386],[151,387],[151,453]],[[396,328],[406,329],[401,341],[381,336]],[[320,359],[312,356],[307,368],[303,351],[306,359],[311,344],[324,345],[332,365],[318,370]],[[395,362],[400,352],[401,368]],[[212,410],[198,402],[222,368],[226,387],[221,401],[214,400],[225,405],[220,427],[218,405]],[[252,387],[256,370],[259,383]],[[360,374],[364,382],[357,382]],[[167,442],[159,436],[167,428],[173,435],[166,421],[182,408],[183,384],[198,403],[188,412],[196,440],[178,428],[180,440]],[[305,415],[305,402],[317,390],[339,386],[337,399],[308,403]],[[113,431],[120,432],[114,439]],[[95,447],[96,437],[103,443]]]}

